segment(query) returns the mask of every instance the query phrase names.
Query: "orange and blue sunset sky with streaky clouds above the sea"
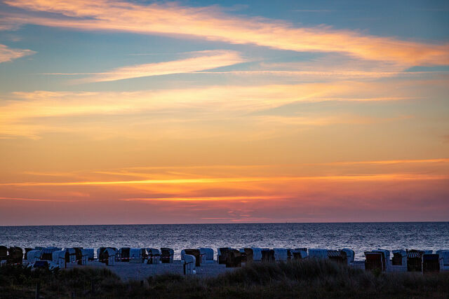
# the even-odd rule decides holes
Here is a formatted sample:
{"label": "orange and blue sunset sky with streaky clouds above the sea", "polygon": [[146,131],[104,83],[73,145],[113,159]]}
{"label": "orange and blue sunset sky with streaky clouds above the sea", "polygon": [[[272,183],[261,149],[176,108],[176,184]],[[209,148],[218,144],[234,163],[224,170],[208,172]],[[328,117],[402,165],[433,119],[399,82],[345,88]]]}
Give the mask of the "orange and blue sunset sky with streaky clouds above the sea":
{"label": "orange and blue sunset sky with streaky clouds above the sea", "polygon": [[448,13],[0,0],[0,225],[449,221]]}

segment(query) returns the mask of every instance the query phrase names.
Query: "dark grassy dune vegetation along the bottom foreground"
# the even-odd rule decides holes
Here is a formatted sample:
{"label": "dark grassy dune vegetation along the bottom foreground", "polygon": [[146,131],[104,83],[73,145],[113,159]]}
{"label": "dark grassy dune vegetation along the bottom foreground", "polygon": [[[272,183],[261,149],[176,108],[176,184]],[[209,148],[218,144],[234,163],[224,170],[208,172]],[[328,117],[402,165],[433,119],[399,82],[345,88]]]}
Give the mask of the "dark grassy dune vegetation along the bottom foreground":
{"label": "dark grassy dune vegetation along the bottom foreground", "polygon": [[448,298],[449,273],[365,272],[327,260],[259,263],[200,279],[177,274],[123,282],[106,269],[0,267],[0,298]]}

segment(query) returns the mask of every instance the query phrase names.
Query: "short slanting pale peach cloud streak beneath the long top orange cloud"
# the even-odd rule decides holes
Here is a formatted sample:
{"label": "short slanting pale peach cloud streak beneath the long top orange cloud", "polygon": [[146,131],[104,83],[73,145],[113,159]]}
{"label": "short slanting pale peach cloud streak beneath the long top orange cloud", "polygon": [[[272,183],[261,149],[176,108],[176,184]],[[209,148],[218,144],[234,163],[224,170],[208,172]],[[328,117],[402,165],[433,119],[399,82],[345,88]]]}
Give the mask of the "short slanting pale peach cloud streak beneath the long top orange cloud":
{"label": "short slanting pale peach cloud streak beneath the long top orange cloud", "polygon": [[189,57],[183,60],[119,67],[104,73],[93,74],[93,76],[89,78],[79,79],[75,82],[104,82],[168,74],[185,74],[205,69],[226,67],[246,61],[239,55],[239,53],[229,50],[199,51],[191,53],[191,55],[194,57]]}

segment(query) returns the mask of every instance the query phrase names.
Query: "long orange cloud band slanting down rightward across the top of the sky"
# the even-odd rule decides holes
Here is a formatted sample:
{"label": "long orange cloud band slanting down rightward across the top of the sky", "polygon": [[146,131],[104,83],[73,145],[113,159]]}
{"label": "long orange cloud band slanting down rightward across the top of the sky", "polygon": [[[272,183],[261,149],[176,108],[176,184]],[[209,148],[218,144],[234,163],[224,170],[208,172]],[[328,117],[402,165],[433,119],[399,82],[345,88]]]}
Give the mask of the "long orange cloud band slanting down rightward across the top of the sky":
{"label": "long orange cloud band slanting down rightward across the top of the sky", "polygon": [[276,20],[233,17],[220,12],[216,7],[189,8],[173,3],[144,6],[105,0],[15,0],[6,1],[6,4],[69,17],[15,17],[18,22],[52,27],[187,35],[282,50],[347,53],[366,60],[394,62],[403,67],[449,64],[447,44],[401,41],[323,26],[298,28]]}

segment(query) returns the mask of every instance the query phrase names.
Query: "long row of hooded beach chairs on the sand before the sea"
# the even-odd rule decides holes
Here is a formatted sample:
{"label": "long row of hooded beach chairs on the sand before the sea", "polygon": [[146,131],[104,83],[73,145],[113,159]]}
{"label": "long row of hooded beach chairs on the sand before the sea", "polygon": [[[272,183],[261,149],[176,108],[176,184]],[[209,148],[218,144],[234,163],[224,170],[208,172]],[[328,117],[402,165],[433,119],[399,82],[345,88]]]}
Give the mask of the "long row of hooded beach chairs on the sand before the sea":
{"label": "long row of hooded beach chairs on the sand before the sea", "polygon": [[[379,270],[389,272],[438,272],[449,270],[449,250],[420,251],[420,250],[394,250],[377,249],[365,252],[363,267],[366,270]],[[115,265],[116,262],[127,263],[173,263],[174,251],[170,248],[130,248],[123,247],[100,247],[97,250],[97,258],[106,265]],[[67,267],[67,263],[86,265],[88,260],[94,260],[94,249],[83,249],[81,247],[60,249],[58,247],[35,247],[25,248],[24,251],[17,246],[0,246],[0,262],[7,264],[22,264],[25,259],[27,263],[53,262],[60,268]],[[354,251],[351,249],[286,249],[286,248],[258,248],[247,247],[233,249],[221,247],[217,249],[217,263],[226,267],[241,267],[242,263],[253,262],[288,262],[303,258],[329,259],[338,263],[354,265]],[[181,260],[185,264],[185,270],[192,272],[195,267],[205,263],[215,263],[214,250],[201,247],[198,249],[183,249]],[[192,264],[192,265],[191,265]],[[187,266],[186,266],[187,265]],[[358,265],[360,263],[358,262]]]}

